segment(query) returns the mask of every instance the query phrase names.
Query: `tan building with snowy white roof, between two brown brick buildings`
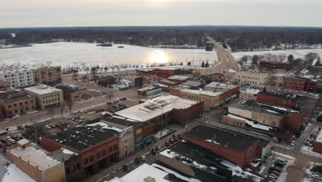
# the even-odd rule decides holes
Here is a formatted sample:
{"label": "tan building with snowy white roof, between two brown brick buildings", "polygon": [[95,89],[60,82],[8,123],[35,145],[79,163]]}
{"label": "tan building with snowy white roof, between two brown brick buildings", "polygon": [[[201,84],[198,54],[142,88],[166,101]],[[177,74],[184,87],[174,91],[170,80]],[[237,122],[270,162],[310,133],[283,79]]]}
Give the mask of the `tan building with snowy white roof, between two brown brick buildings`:
{"label": "tan building with snowy white roof, between two brown brick buildings", "polygon": [[31,88],[25,88],[24,90],[36,98],[37,107],[40,110],[45,110],[45,108],[54,105],[61,105],[63,101],[63,90],[47,85],[36,85]]}

